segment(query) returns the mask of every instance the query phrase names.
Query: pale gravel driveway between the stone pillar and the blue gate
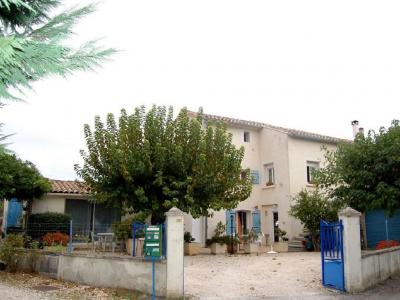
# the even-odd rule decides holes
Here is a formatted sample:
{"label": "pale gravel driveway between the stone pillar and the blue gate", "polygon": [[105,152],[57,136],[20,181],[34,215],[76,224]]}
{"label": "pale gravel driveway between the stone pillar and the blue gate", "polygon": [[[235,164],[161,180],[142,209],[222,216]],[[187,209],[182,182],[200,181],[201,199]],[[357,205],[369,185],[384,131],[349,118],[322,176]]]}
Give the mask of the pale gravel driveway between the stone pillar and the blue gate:
{"label": "pale gravel driveway between the stone pillar and the blue gate", "polygon": [[194,299],[324,297],[319,253],[185,257],[185,294]]}

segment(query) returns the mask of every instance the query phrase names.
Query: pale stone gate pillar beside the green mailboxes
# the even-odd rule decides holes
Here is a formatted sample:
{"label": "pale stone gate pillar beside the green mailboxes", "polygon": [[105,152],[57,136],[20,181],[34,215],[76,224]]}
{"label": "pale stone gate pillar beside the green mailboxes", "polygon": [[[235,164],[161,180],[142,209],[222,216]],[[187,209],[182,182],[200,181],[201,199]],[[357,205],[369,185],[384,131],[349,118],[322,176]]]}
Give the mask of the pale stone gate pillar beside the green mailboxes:
{"label": "pale stone gate pillar beside the green mailboxes", "polygon": [[184,296],[183,212],[171,208],[167,216],[167,298]]}

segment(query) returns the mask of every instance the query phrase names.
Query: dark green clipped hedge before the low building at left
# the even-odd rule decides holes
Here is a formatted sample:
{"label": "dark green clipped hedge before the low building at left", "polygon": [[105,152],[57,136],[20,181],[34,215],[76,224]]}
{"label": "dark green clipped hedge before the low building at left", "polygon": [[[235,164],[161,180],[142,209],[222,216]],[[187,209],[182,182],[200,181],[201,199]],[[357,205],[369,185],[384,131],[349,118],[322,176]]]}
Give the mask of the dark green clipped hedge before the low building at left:
{"label": "dark green clipped hedge before the low building at left", "polygon": [[69,234],[71,217],[67,214],[46,212],[32,214],[28,220],[28,235],[33,239],[40,239],[47,232],[61,232]]}

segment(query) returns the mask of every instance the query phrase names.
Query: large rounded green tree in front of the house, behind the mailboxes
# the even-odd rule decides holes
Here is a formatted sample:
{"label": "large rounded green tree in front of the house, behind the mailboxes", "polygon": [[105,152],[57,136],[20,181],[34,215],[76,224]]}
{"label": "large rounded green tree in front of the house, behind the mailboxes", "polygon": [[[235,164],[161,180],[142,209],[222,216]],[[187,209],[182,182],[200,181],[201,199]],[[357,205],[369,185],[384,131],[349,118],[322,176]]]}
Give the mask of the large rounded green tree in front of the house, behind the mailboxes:
{"label": "large rounded green tree in front of the house, behind the mailboxes", "polygon": [[[204,125],[204,126],[203,126]],[[99,202],[136,213],[147,211],[152,222],[176,206],[194,217],[209,209],[231,209],[251,193],[251,178],[241,177],[244,149],[236,149],[226,126],[189,118],[182,109],[153,106],[146,114],[121,111],[106,125],[95,119],[84,127],[87,151],[77,174]]]}

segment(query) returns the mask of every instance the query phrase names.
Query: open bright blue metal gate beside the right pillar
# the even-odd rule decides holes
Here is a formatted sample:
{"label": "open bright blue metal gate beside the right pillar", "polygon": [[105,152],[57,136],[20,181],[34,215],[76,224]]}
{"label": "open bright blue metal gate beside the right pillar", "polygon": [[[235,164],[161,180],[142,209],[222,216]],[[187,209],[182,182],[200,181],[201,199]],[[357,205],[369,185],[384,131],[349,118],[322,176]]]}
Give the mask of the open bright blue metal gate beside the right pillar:
{"label": "open bright blue metal gate beside the right pillar", "polygon": [[342,221],[320,222],[322,284],[345,291]]}

